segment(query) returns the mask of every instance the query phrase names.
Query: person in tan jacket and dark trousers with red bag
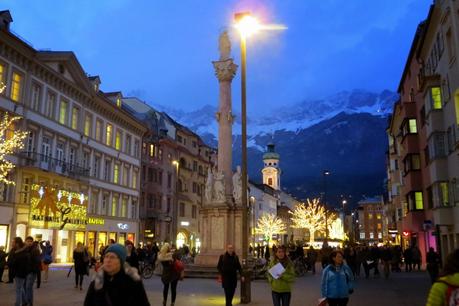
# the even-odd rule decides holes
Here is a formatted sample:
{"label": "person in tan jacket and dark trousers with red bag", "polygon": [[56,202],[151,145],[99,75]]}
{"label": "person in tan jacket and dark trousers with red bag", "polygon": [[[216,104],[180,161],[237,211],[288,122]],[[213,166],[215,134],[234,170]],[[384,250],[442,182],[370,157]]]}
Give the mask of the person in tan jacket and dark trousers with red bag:
{"label": "person in tan jacket and dark trousers with red bag", "polygon": [[180,272],[174,268],[174,261],[179,260],[178,254],[165,243],[159,251],[158,260],[162,265],[163,272],[161,281],[163,283],[163,306],[166,306],[169,287],[171,288],[171,306],[174,306],[177,298],[177,284],[180,279]]}

